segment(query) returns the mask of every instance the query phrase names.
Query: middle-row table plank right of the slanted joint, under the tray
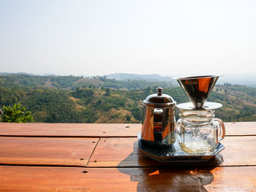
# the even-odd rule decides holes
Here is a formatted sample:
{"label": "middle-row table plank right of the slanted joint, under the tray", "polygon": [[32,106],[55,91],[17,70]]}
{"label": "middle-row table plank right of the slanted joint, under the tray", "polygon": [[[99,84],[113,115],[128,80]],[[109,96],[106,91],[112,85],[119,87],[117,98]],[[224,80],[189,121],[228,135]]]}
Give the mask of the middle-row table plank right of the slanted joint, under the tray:
{"label": "middle-row table plank right of the slanted joint, under the tray", "polygon": [[[222,140],[225,150],[210,163],[201,166],[247,166],[256,165],[256,137],[226,137]],[[101,138],[89,161],[89,167],[111,166],[165,166],[146,157],[138,149],[136,138]],[[181,164],[180,165],[185,165]]]}

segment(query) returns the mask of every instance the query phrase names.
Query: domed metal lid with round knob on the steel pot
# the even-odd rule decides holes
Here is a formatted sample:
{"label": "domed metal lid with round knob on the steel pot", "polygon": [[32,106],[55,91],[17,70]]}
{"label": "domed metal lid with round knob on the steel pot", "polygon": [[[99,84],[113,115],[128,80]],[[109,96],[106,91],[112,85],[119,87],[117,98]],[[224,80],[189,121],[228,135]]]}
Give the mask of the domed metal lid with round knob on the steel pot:
{"label": "domed metal lid with round knob on the steel pot", "polygon": [[176,101],[171,96],[162,93],[163,90],[163,88],[157,88],[157,93],[147,96],[143,104],[153,107],[171,107],[176,105]]}

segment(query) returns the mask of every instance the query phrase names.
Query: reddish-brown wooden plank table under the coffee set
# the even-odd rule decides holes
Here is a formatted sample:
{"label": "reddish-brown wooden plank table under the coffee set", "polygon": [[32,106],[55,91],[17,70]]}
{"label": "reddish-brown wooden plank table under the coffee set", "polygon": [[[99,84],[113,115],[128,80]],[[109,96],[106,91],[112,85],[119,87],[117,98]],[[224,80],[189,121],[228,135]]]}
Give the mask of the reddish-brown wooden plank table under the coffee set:
{"label": "reddish-brown wooden plank table under the coffee set", "polygon": [[0,191],[256,191],[256,122],[225,126],[211,163],[169,164],[140,124],[0,123]]}

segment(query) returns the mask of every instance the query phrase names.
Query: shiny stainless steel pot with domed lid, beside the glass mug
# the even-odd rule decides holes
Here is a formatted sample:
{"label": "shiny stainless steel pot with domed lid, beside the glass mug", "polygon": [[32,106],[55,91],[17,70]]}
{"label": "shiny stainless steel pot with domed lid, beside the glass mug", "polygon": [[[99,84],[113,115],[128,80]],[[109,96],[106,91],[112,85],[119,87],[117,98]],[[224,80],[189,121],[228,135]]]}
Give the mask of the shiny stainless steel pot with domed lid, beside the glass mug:
{"label": "shiny stainless steel pot with domed lid, beside the glass mug", "polygon": [[151,94],[143,101],[141,139],[152,145],[172,145],[175,142],[176,101],[162,93]]}

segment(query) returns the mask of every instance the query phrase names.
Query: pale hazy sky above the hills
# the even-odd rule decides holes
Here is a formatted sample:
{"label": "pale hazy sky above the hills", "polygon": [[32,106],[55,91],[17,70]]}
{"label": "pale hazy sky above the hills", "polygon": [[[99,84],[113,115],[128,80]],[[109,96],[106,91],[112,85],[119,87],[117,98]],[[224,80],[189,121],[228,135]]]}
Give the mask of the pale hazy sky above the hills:
{"label": "pale hazy sky above the hills", "polygon": [[0,0],[0,72],[256,72],[255,0]]}

